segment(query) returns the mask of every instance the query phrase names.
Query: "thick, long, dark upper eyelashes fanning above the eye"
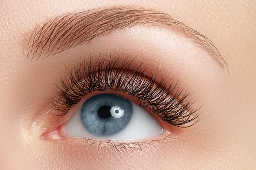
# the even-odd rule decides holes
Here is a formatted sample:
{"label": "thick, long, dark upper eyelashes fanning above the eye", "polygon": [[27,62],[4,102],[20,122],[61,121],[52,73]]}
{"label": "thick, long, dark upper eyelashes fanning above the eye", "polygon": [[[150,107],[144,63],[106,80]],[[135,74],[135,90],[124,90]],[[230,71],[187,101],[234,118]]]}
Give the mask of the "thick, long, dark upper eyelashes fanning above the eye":
{"label": "thick, long, dark upper eyelashes fanning above the eye", "polygon": [[[168,83],[166,77],[157,81],[161,70],[158,66],[148,73],[148,66],[144,67],[143,62],[128,56],[104,59],[99,55],[96,62],[93,58],[81,60],[75,71],[67,68],[67,77],[61,79],[61,87],[56,85],[57,96],[52,99],[52,108],[60,112],[56,115],[66,114],[90,92],[109,89],[128,93],[137,99],[141,107],[148,108],[164,122],[176,127],[189,127],[198,121],[198,109],[192,108],[190,92],[186,91],[181,96],[183,89],[178,83]],[[194,120],[192,125],[185,125]]]}

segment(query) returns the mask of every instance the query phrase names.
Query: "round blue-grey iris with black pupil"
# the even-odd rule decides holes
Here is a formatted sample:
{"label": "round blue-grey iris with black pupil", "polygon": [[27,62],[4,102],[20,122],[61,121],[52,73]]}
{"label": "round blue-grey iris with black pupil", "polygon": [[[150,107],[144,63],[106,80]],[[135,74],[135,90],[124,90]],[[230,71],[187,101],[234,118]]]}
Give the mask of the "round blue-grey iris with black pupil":
{"label": "round blue-grey iris with black pupil", "polygon": [[[115,115],[122,112],[123,116],[112,116],[111,108],[117,108],[114,110]],[[99,94],[84,102],[81,121],[88,132],[98,136],[110,136],[119,133],[128,125],[132,113],[133,108],[128,99],[115,94]]]}

